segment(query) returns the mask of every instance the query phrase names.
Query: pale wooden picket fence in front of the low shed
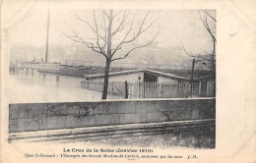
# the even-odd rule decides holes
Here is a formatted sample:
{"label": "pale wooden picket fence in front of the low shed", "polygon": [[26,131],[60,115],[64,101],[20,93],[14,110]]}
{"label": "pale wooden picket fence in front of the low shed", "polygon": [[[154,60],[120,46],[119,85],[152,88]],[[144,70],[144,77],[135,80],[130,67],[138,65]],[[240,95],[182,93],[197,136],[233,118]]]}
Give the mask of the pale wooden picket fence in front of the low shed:
{"label": "pale wooden picket fence in front of the low shed", "polygon": [[[125,88],[127,86],[127,88]],[[107,93],[128,98],[188,98],[191,97],[191,84],[188,81],[163,83],[152,81],[109,82]],[[102,92],[103,82],[82,81],[82,87]],[[213,81],[193,82],[192,97],[214,96]]]}

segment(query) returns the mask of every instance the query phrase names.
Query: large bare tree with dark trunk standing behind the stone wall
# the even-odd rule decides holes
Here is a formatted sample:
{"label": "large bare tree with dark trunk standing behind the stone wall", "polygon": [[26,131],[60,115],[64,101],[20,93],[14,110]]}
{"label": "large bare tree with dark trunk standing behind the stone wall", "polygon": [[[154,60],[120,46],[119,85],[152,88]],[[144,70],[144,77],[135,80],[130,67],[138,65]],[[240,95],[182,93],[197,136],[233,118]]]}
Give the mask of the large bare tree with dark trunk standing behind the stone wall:
{"label": "large bare tree with dark trunk standing behind the stone wall", "polygon": [[[148,11],[142,20],[138,22],[138,11],[134,14],[127,10],[102,10],[98,15],[96,11],[93,11],[93,22],[82,19],[77,14],[76,18],[83,22],[87,27],[93,31],[95,37],[86,40],[80,34],[78,34],[73,28],[73,35],[67,35],[68,38],[75,42],[83,43],[87,48],[92,49],[96,53],[101,54],[105,58],[105,70],[104,70],[104,84],[102,91],[102,99],[106,99],[109,68],[113,61],[125,59],[134,50],[142,47],[146,47],[156,42],[159,31],[152,35],[150,40],[145,44],[130,47],[128,50],[123,52],[123,46],[137,40],[146,30],[152,27],[157,20],[146,23],[149,19],[150,11]],[[137,20],[137,22],[136,22]],[[137,24],[136,24],[137,23]],[[117,34],[119,35],[117,36]],[[122,51],[122,53],[121,53]],[[118,54],[118,55],[117,55]],[[118,57],[117,57],[118,56]]]}

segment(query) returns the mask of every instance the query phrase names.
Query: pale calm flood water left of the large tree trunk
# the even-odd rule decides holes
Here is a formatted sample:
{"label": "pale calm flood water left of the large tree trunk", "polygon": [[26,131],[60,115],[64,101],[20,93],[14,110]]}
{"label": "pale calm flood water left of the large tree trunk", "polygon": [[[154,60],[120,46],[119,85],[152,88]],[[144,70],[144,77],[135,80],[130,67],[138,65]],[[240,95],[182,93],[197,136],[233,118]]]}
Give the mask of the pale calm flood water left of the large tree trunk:
{"label": "pale calm flood water left of the large tree trunk", "polygon": [[[9,76],[9,103],[82,102],[100,100],[101,92],[81,87],[83,78],[19,70]],[[108,98],[117,98],[108,96]]]}

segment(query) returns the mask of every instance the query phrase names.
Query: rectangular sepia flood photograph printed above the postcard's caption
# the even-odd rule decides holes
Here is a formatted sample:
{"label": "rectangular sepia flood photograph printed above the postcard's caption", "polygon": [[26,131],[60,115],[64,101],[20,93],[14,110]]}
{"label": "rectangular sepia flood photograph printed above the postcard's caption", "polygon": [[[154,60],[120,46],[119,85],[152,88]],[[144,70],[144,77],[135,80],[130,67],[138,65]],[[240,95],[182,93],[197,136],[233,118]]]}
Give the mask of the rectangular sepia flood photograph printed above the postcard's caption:
{"label": "rectangular sepia flood photograph printed above the postcard's caption", "polygon": [[215,148],[216,24],[215,10],[31,8],[8,30],[9,141]]}

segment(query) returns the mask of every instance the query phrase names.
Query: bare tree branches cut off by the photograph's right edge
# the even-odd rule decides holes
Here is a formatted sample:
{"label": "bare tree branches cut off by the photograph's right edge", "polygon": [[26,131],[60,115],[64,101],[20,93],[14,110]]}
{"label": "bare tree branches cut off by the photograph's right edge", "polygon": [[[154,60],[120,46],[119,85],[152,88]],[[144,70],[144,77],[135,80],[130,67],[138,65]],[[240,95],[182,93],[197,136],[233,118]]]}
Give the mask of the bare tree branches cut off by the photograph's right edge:
{"label": "bare tree branches cut off by the photograph's right edge", "polygon": [[207,29],[208,33],[210,34],[213,42],[213,51],[211,52],[205,52],[205,54],[193,54],[193,52],[188,52],[184,47],[183,50],[187,55],[193,58],[200,58],[204,61],[208,61],[213,65],[213,69],[215,69],[215,63],[216,63],[216,18],[215,15],[209,11],[209,10],[202,10],[199,11],[199,17],[200,20],[202,21],[204,27]]}

